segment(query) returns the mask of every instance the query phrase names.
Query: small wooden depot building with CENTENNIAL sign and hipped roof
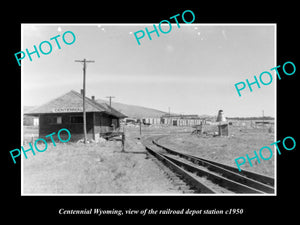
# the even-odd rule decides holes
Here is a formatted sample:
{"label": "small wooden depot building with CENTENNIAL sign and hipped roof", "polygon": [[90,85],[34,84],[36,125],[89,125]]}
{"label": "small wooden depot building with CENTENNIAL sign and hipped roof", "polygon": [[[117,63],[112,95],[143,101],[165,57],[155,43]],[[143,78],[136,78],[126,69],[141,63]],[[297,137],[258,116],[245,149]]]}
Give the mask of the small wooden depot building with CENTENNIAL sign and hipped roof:
{"label": "small wooden depot building with CENTENNIAL sign and hipped roof", "polygon": [[[70,92],[46,103],[24,115],[39,118],[39,137],[45,137],[61,128],[71,133],[71,141],[84,137],[83,134],[83,95]],[[120,119],[126,116],[105,103],[98,103],[95,97],[85,97],[87,138],[96,140],[101,135],[117,130]],[[67,134],[66,134],[67,135]]]}

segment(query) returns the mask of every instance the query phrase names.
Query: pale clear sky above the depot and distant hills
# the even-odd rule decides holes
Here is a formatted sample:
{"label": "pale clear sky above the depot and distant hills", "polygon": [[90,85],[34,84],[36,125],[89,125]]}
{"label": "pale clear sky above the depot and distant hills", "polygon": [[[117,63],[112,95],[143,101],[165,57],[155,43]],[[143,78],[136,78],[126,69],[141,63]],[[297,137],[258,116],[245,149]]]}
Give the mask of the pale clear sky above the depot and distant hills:
{"label": "pale clear sky above the depot and distant hills", "polygon": [[[155,23],[158,27],[158,24]],[[275,116],[275,26],[273,24],[172,24],[159,37],[147,34],[138,45],[134,33],[153,30],[153,24],[22,24],[21,50],[29,52],[43,41],[52,44],[21,61],[22,104],[38,106],[70,90],[80,92],[82,64],[86,95],[96,99],[150,107],[180,114]],[[162,26],[168,30],[169,26]],[[66,45],[62,35],[72,31],[76,40]],[[59,49],[55,40],[60,43]],[[72,41],[70,34],[66,41]],[[47,45],[43,45],[48,51]],[[17,61],[16,61],[17,63]],[[270,85],[245,89],[239,97],[234,84],[270,71]],[[267,78],[265,78],[267,80]]]}

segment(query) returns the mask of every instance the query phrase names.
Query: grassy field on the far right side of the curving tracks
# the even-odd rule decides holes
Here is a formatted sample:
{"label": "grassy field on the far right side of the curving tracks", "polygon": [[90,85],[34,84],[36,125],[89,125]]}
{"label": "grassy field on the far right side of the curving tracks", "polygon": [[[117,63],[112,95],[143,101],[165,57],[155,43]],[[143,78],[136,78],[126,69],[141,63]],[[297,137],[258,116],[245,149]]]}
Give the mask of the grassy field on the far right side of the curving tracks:
{"label": "grassy field on the far right side of the curving tracks", "polygon": [[[254,151],[259,155],[259,150],[263,146],[273,149],[270,144],[274,141],[274,133],[269,132],[268,129],[230,126],[228,137],[197,136],[185,133],[162,138],[159,143],[178,151],[237,167],[234,161],[236,158],[246,158],[246,154],[252,158],[255,156]],[[253,159],[251,161],[253,167],[247,161],[241,169],[273,177],[276,152],[273,150],[273,157],[269,160],[260,159],[260,163],[257,159]],[[268,158],[269,154],[268,151],[263,152],[265,158]]]}

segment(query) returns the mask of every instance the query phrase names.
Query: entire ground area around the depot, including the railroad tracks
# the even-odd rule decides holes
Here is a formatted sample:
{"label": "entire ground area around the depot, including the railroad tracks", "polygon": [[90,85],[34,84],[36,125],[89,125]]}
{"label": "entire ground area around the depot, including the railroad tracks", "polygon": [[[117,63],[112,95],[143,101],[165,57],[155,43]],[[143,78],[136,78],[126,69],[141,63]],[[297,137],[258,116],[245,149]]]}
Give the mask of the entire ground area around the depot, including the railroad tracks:
{"label": "entire ground area around the depot, including the railroad tracks", "polygon": [[[114,139],[86,145],[61,143],[23,161],[23,192],[274,194],[273,159],[253,162],[242,172],[234,165],[237,156],[273,141],[274,133],[270,127],[231,124],[228,136],[210,131],[213,125],[207,125],[202,134],[195,134],[193,126],[124,125],[124,151]],[[24,141],[37,132],[24,129]]]}

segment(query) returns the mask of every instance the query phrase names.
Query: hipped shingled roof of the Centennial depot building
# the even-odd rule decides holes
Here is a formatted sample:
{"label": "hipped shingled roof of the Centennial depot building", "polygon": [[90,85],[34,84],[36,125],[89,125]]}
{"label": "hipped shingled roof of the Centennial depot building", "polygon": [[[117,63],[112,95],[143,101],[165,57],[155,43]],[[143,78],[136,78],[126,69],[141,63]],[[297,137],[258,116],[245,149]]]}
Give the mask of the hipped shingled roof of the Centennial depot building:
{"label": "hipped shingled roof of the Centennial depot building", "polygon": [[[37,116],[39,114],[46,113],[74,113],[74,112],[83,112],[82,108],[83,96],[71,90],[70,92],[51,100],[48,103],[45,103],[41,106],[38,106],[25,115]],[[118,118],[125,118],[126,115],[117,111],[113,107],[110,107],[106,103],[98,103],[95,100],[92,100],[88,97],[85,97],[85,111],[86,112],[103,112]]]}

